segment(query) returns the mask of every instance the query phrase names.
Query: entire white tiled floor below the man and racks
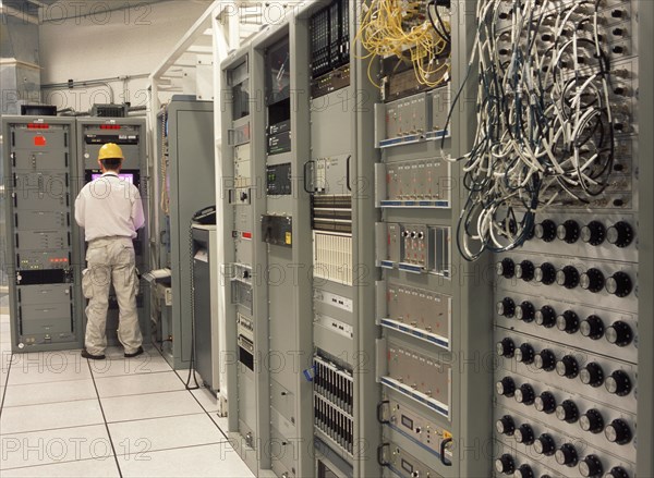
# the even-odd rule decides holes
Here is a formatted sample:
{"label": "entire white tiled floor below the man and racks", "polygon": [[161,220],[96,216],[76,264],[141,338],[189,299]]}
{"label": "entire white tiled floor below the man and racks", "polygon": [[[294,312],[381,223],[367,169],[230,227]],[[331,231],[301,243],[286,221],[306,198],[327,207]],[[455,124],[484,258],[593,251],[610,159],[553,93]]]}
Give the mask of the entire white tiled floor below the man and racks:
{"label": "entire white tiled floor below the man and racks", "polygon": [[[0,476],[253,477],[216,399],[187,391],[153,348],[104,361],[80,351],[11,354],[0,316]],[[180,377],[181,376],[181,377]]]}

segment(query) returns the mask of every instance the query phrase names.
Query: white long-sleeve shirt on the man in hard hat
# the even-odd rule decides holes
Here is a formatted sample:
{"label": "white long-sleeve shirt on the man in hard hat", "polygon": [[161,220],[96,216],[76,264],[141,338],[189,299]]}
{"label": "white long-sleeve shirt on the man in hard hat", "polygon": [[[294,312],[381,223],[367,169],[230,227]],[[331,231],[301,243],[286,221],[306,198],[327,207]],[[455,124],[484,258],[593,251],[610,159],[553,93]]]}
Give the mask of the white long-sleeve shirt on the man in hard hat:
{"label": "white long-sleeve shirt on the man in hard hat", "polygon": [[136,237],[145,217],[138,188],[105,173],[86,184],[75,199],[75,221],[84,228],[86,241],[100,237]]}

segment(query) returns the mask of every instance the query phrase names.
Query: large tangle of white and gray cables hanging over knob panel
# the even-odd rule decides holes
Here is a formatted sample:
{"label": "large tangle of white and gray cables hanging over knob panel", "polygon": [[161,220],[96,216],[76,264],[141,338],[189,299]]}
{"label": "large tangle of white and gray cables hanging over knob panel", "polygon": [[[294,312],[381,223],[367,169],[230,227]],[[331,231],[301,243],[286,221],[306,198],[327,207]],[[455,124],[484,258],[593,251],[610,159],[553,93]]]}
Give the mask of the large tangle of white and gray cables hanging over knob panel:
{"label": "large tangle of white and gray cables hanging over knob panel", "polygon": [[468,74],[479,68],[477,128],[459,158],[465,259],[522,245],[538,211],[606,188],[615,140],[597,3],[480,1]]}

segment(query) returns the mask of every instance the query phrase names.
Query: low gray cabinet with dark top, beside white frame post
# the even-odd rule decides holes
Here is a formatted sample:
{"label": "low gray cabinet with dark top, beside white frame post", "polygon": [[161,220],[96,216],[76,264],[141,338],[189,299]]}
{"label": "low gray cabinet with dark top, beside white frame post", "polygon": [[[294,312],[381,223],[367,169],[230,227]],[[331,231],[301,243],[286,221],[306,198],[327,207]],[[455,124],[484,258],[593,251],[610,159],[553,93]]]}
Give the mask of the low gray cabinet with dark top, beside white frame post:
{"label": "low gray cabinet with dark top, beside white frame post", "polygon": [[193,320],[195,369],[205,385],[219,390],[218,262],[216,226],[193,224]]}

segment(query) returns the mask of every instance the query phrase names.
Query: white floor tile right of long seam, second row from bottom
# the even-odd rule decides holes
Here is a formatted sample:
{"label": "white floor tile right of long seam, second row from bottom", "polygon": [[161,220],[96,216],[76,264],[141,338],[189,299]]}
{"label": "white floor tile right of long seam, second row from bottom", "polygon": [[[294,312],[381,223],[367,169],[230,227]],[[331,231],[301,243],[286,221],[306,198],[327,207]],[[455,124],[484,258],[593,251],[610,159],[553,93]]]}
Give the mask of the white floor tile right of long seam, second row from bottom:
{"label": "white floor tile right of long seam, second row from bottom", "polygon": [[[171,430],[174,430],[171,432]],[[207,414],[109,424],[118,455],[179,449],[226,441]]]}

